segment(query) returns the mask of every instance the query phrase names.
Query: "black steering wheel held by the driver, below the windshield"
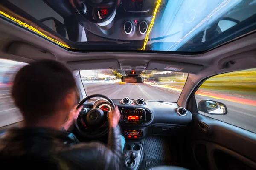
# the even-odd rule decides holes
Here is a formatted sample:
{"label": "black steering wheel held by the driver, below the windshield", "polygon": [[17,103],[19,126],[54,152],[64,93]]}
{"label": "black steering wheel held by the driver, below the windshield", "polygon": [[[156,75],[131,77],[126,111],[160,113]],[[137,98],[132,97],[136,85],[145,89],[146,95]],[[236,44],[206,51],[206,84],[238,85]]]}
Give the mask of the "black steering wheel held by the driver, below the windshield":
{"label": "black steering wheel held by the driver, below the windshield", "polygon": [[[102,97],[106,99],[109,102],[112,111],[116,107],[114,102],[107,96],[102,94],[93,94],[82,99],[76,109],[79,109],[84,102],[93,97]],[[109,111],[103,111],[102,109],[92,109],[89,112],[83,111],[82,109],[75,122],[77,132],[81,136],[91,139],[104,136],[109,131],[108,113]]]}

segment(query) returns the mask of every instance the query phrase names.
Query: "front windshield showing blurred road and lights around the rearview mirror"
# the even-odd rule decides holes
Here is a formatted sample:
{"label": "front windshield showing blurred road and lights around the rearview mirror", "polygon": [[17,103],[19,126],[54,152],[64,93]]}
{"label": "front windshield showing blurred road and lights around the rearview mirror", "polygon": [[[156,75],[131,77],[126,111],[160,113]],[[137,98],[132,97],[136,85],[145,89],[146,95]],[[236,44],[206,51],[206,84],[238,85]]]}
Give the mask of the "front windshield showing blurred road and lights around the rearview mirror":
{"label": "front windshield showing blurred road and lights around the rearview mirror", "polygon": [[145,70],[141,77],[144,83],[121,82],[122,70],[80,71],[84,89],[88,95],[103,94],[111,99],[143,98],[165,102],[177,102],[188,74],[172,71]]}

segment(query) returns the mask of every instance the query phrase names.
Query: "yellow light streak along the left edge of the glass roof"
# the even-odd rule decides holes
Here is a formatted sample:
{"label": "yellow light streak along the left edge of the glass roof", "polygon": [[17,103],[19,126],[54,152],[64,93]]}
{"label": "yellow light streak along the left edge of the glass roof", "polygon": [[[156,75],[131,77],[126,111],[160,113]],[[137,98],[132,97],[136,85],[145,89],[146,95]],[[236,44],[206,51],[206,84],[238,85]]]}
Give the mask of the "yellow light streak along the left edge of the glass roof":
{"label": "yellow light streak along the left edge of the glass roof", "polygon": [[0,14],[3,15],[3,16],[5,16],[5,17],[7,17],[7,18],[9,18],[9,19],[11,19],[11,20],[13,20],[14,22],[20,24],[21,26],[24,26],[25,28],[28,28],[28,29],[30,29],[30,30],[32,30],[32,31],[34,31],[34,32],[36,32],[36,33],[38,33],[38,34],[40,34],[41,36],[43,36],[43,37],[45,37],[45,38],[47,38],[47,39],[49,39],[49,40],[52,40],[53,42],[55,42],[55,43],[58,44],[58,45],[61,45],[62,47],[74,49],[74,48],[71,48],[71,47],[69,47],[69,46],[67,46],[67,45],[65,45],[65,44],[63,44],[63,43],[61,43],[61,42],[59,42],[58,40],[55,40],[55,39],[53,39],[53,38],[51,38],[51,37],[45,35],[45,34],[42,33],[41,31],[39,31],[38,29],[36,29],[36,28],[30,26],[29,24],[23,23],[22,21],[17,20],[16,18],[9,16],[8,14],[6,14],[6,13],[4,13],[4,12],[2,12],[2,11],[0,11]]}

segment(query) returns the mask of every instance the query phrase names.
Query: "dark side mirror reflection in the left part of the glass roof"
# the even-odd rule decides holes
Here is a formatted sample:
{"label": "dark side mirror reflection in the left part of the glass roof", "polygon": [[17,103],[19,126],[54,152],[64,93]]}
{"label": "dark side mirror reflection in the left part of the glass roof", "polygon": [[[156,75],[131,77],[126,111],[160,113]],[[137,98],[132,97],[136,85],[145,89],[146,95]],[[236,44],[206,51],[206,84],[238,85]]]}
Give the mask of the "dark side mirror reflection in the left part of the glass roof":
{"label": "dark side mirror reflection in the left part of the glass roof", "polygon": [[60,34],[62,37],[66,37],[66,29],[64,27],[64,24],[61,23],[59,20],[57,20],[54,17],[47,17],[39,20],[41,23],[44,25],[48,26],[51,28],[53,31],[57,32]]}

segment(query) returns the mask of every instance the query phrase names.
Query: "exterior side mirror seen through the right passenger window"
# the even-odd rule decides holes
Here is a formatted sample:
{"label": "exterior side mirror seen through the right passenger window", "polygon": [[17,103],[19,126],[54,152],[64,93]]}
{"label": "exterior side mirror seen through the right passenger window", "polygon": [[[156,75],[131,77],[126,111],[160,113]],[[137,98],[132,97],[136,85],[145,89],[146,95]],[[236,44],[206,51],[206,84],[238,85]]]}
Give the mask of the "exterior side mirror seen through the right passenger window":
{"label": "exterior side mirror seen through the right passenger window", "polygon": [[208,114],[227,114],[227,107],[223,103],[212,100],[201,100],[198,103],[198,111]]}

